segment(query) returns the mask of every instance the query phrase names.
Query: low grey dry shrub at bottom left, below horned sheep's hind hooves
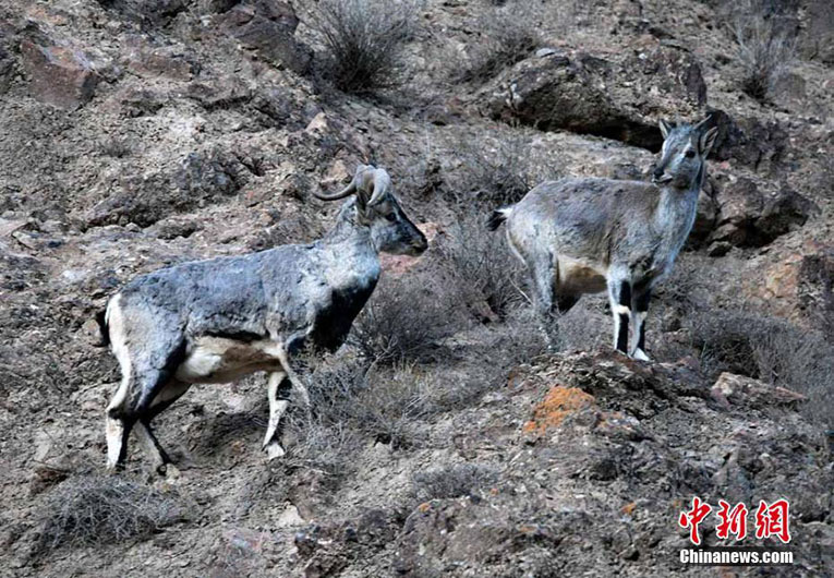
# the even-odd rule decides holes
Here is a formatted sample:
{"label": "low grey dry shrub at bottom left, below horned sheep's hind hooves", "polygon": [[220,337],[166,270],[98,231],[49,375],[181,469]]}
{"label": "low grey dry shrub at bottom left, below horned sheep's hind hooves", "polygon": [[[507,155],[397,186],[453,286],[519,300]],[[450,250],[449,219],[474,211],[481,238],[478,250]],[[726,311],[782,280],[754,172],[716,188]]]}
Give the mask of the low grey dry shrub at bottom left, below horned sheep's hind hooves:
{"label": "low grey dry shrub at bottom left, below horned sheep's hind hooves", "polygon": [[84,475],[59,485],[44,508],[39,553],[146,538],[186,519],[176,494],[116,475]]}

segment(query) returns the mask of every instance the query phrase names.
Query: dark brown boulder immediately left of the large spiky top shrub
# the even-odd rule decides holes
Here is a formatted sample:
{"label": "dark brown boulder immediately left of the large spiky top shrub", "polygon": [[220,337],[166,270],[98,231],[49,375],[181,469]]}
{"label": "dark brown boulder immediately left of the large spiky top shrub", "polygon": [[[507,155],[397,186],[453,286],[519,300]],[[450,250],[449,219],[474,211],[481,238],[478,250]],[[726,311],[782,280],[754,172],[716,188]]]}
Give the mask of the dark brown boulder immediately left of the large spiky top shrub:
{"label": "dark brown boulder immediately left of the large spiky top shrub", "polygon": [[299,19],[287,2],[255,0],[222,14],[220,29],[266,60],[298,73],[307,70],[310,51],[295,40]]}

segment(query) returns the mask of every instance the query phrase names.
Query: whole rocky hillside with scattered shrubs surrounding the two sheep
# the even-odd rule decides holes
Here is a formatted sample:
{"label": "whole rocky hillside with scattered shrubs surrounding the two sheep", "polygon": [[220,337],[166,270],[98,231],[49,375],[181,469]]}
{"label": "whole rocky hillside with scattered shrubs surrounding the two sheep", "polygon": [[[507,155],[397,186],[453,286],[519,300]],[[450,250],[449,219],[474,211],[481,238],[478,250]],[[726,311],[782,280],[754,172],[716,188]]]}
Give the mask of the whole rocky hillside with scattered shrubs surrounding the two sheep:
{"label": "whole rocky hillside with scattered shrubs surrounding the two sheep", "polygon": [[[343,5],[401,19],[384,75],[346,76],[333,2],[0,0],[0,576],[830,576],[831,2]],[[607,348],[602,297],[545,353],[483,216],[544,179],[643,179],[658,119],[710,113],[656,361]],[[431,249],[386,258],[349,345],[304,360],[288,455],[259,451],[253,376],[157,420],[178,471],[135,447],[105,475],[108,296],[315,239],[338,207],[312,193],[358,162]],[[693,495],[789,498],[797,564],[685,568]]]}

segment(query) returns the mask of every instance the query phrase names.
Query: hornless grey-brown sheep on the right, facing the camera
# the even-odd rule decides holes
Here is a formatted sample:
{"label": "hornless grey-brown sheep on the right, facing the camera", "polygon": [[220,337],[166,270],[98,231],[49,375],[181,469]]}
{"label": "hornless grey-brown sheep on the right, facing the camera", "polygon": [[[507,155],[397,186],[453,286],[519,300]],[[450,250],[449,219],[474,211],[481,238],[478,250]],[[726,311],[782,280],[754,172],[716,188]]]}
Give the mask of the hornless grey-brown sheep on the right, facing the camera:
{"label": "hornless grey-brown sheep on the right, facing the camera", "polygon": [[[694,222],[704,159],[716,129],[706,121],[673,127],[661,122],[661,159],[652,182],[563,179],[544,182],[488,226],[507,221],[507,239],[530,272],[543,317],[563,312],[584,293],[608,291],[615,347],[643,351],[643,321],[652,286],[672,269]],[[625,339],[624,339],[625,335]]]}

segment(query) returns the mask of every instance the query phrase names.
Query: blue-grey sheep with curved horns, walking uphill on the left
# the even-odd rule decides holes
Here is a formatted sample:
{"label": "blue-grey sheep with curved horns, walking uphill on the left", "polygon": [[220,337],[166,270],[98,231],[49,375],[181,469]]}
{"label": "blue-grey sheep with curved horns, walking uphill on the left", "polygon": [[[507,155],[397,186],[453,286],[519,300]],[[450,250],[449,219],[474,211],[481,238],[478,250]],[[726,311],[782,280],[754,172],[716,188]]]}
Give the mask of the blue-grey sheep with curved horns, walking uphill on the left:
{"label": "blue-grey sheep with curved horns, walking uphill on the left", "polygon": [[[355,195],[355,196],[354,196]],[[168,461],[150,420],[192,383],[229,382],[256,371],[269,378],[270,457],[287,401],[288,364],[301,347],[335,350],[379,277],[379,251],[418,255],[425,237],[409,220],[382,169],[360,166],[331,201],[345,203],[336,226],[311,244],[184,263],[143,275],[113,296],[107,330],[122,384],[107,409],[108,466],[124,460],[134,426],[158,466]]]}

